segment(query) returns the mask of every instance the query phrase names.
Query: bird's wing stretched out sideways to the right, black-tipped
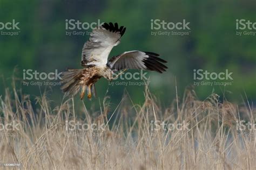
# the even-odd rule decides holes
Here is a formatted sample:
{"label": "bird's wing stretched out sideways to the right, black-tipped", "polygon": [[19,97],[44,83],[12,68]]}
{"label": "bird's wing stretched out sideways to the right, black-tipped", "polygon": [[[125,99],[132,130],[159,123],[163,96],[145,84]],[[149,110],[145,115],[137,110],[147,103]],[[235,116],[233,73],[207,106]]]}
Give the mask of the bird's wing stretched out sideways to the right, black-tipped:
{"label": "bird's wing stretched out sideways to the right, black-tipped", "polygon": [[167,61],[160,59],[158,56],[158,54],[151,52],[129,51],[114,56],[107,65],[116,71],[122,69],[145,69],[163,73],[167,69],[163,63]]}

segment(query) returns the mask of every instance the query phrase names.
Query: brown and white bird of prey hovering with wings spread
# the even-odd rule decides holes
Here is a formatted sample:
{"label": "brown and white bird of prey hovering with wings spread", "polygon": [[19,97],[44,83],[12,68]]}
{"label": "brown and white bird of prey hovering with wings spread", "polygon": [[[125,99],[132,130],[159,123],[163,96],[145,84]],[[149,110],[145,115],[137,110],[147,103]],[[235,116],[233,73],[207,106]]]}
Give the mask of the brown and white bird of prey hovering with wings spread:
{"label": "brown and white bird of prey hovering with wings spread", "polygon": [[96,95],[95,83],[101,78],[111,81],[113,75],[126,69],[152,70],[159,73],[166,71],[163,64],[167,61],[160,59],[152,52],[129,51],[113,56],[107,60],[111,49],[120,43],[126,28],[118,24],[104,23],[93,29],[90,39],[85,42],[82,51],[81,65],[83,69],[68,69],[62,73],[62,90],[65,95],[76,95],[79,90],[83,99],[87,90],[87,98]]}

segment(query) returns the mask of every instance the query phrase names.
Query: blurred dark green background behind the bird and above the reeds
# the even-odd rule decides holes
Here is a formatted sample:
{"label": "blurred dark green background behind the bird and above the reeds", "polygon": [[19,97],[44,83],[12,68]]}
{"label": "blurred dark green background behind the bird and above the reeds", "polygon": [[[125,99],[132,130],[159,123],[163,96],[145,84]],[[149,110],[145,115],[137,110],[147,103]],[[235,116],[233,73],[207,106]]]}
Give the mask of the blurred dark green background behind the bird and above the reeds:
{"label": "blurred dark green background behind the bird and above the reeds", "polygon": [[[66,36],[65,20],[80,22],[117,22],[126,27],[122,42],[111,55],[124,51],[156,52],[168,61],[166,73],[148,73],[150,89],[157,98],[169,105],[176,96],[183,96],[187,86],[194,83],[193,70],[233,72],[231,86],[198,86],[195,91],[204,99],[213,91],[224,91],[230,101],[241,101],[247,95],[256,101],[256,35],[237,36],[236,19],[256,22],[256,1],[0,1],[0,22],[19,22],[17,36],[0,36],[0,95],[11,87],[12,76],[16,87],[31,97],[40,95],[38,86],[23,86],[23,69],[38,72],[62,72],[66,68],[82,68],[80,56],[89,36]],[[151,19],[166,22],[190,22],[187,36],[152,36]],[[71,30],[72,31],[72,30]],[[74,30],[80,31],[80,30]],[[84,30],[82,30],[84,31]],[[91,30],[86,30],[91,31]],[[154,30],[153,30],[154,31]],[[165,31],[163,29],[159,31]],[[179,32],[179,30],[173,30]],[[182,30],[181,30],[182,31]],[[254,31],[256,30],[240,30]],[[35,81],[35,80],[31,80]],[[120,81],[120,80],[117,80]],[[202,80],[204,81],[204,80]],[[136,82],[136,81],[133,81]],[[142,82],[142,81],[138,81]],[[51,100],[61,101],[60,86],[46,88]],[[100,100],[107,92],[117,105],[126,89],[136,103],[142,103],[143,86],[109,86],[104,79],[96,83]],[[99,98],[86,103],[98,103]],[[79,100],[79,97],[76,98]],[[85,99],[87,100],[87,99]]]}

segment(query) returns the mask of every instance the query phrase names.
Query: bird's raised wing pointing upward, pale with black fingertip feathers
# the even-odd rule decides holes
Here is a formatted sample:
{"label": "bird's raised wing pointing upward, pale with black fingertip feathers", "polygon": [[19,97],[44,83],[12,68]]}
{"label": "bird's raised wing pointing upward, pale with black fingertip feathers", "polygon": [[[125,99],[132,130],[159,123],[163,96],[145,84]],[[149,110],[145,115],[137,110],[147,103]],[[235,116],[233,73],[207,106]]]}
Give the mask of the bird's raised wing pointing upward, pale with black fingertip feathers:
{"label": "bird's raised wing pointing upward, pale with black fingertip feathers", "polygon": [[117,23],[104,23],[94,29],[90,39],[85,42],[82,51],[82,66],[104,67],[111,49],[120,43],[125,27]]}

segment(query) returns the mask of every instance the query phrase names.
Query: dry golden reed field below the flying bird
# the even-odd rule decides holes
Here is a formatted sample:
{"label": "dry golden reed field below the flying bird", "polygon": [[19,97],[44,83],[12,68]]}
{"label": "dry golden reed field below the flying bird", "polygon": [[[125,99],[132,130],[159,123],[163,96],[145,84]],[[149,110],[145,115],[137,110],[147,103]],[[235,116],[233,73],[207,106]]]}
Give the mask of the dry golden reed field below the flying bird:
{"label": "dry golden reed field below the flying bird", "polygon": [[[184,94],[161,108],[146,88],[143,104],[133,103],[126,94],[114,110],[111,98],[105,97],[101,107],[91,111],[86,108],[89,101],[78,101],[76,108],[73,98],[51,107],[45,95],[37,97],[37,108],[32,109],[29,95],[6,89],[0,98],[0,168],[255,169],[254,130],[237,130],[237,121],[254,123],[251,103],[220,103],[217,94],[200,101],[192,89]],[[18,130],[3,128],[13,121]],[[72,121],[84,129],[67,124]],[[189,125],[164,131],[152,122]],[[103,129],[87,128],[98,124]]]}

